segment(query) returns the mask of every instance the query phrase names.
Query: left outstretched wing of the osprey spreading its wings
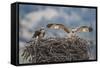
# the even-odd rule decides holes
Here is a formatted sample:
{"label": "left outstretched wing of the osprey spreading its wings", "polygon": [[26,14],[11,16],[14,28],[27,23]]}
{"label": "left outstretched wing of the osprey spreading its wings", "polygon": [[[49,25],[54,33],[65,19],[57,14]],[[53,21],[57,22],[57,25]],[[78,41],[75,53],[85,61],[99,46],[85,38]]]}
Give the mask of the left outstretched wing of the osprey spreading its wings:
{"label": "left outstretched wing of the osprey spreading its wings", "polygon": [[69,33],[69,29],[66,28],[64,25],[62,24],[48,24],[47,25],[47,28],[50,28],[50,29],[62,29],[64,30],[65,32]]}

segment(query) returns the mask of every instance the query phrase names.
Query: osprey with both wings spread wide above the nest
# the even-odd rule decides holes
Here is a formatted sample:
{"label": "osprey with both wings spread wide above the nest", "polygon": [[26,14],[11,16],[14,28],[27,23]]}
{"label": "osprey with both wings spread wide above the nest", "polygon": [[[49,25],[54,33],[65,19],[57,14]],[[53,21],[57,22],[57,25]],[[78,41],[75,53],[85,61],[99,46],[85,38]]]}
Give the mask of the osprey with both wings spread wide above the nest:
{"label": "osprey with both wings spread wide above the nest", "polygon": [[69,29],[63,24],[48,24],[47,28],[50,29],[61,29],[68,33],[68,37],[75,37],[77,32],[91,32],[93,29],[89,26],[80,26],[77,28]]}

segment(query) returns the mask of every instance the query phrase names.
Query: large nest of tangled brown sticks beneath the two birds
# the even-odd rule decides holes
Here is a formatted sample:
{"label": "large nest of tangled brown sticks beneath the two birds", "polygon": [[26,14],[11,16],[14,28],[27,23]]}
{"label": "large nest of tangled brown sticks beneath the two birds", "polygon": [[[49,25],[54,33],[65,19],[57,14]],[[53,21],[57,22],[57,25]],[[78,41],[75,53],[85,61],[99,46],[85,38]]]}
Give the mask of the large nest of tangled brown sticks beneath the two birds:
{"label": "large nest of tangled brown sticks beneath the two birds", "polygon": [[30,63],[88,60],[87,41],[82,38],[46,38],[31,41],[23,51]]}

